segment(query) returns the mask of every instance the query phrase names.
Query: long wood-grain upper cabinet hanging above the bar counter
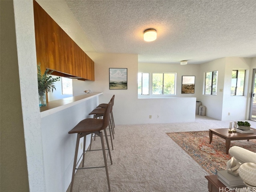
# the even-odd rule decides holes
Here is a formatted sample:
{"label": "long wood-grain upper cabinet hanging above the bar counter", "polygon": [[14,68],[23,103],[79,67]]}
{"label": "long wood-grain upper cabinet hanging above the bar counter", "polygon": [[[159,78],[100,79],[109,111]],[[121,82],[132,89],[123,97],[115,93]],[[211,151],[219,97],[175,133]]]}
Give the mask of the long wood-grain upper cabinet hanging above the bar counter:
{"label": "long wood-grain upper cabinet hanging above the bar counter", "polygon": [[48,68],[58,76],[94,81],[94,62],[35,0],[33,4],[36,58],[42,72]]}

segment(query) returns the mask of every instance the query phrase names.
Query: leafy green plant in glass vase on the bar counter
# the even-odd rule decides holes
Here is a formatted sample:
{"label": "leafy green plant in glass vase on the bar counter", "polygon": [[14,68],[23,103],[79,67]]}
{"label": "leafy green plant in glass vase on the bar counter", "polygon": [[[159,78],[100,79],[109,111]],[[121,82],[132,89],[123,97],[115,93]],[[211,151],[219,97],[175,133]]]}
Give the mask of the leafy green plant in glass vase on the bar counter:
{"label": "leafy green plant in glass vase on the bar counter", "polygon": [[54,71],[46,69],[44,74],[41,73],[40,63],[37,65],[37,80],[38,80],[38,95],[39,106],[46,106],[46,92],[50,92],[55,89],[54,82],[59,81],[60,77],[52,78],[50,74]]}

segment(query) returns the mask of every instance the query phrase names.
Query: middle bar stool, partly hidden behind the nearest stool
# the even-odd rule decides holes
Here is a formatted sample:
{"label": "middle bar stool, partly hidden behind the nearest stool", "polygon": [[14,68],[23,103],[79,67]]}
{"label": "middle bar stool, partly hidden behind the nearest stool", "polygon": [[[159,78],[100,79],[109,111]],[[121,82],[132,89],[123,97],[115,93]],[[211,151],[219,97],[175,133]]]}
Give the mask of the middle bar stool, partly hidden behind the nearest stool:
{"label": "middle bar stool, partly hidden behind the nearest stool", "polygon": [[[111,115],[111,111],[112,111],[112,107],[113,107],[112,100],[114,100],[114,99],[112,98],[110,100],[110,102],[111,102],[110,115]],[[89,115],[94,115],[93,118],[102,118],[102,116],[104,114],[104,111],[105,111],[105,108],[96,108],[96,109],[92,110],[92,112],[90,112]],[[113,132],[113,125],[112,125],[111,120],[109,121],[108,128],[109,128],[109,133],[110,133],[110,140],[111,140],[112,150],[114,150],[113,141],[112,141],[112,136],[113,136],[113,139],[114,139],[114,132]],[[91,146],[92,146],[92,137],[93,136],[91,135],[90,149],[91,149]],[[95,140],[95,136],[94,136],[94,140]]]}

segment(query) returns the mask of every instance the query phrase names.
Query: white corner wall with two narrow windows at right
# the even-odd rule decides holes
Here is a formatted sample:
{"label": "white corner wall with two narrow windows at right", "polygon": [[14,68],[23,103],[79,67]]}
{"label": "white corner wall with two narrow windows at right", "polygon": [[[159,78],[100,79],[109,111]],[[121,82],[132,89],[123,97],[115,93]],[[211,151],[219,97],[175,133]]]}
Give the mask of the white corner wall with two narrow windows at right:
{"label": "white corner wall with two narrow windows at right", "polygon": [[[202,93],[200,100],[206,106],[206,116],[218,120],[242,120],[248,119],[248,90],[250,89],[251,58],[229,57],[217,59],[205,64],[200,64]],[[233,69],[246,69],[244,96],[230,96],[231,78]],[[204,95],[204,76],[208,71],[218,70],[217,95]],[[220,92],[223,89],[223,92]],[[230,116],[228,116],[230,112]]]}

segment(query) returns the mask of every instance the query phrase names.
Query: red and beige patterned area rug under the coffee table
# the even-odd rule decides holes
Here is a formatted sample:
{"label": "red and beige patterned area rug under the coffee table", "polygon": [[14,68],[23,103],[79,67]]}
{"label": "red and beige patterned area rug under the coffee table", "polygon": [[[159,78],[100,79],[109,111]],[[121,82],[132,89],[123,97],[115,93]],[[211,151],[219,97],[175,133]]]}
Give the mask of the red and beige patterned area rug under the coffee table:
{"label": "red and beige patterned area rug under the coffee table", "polygon": [[[225,170],[230,154],[226,154],[226,140],[213,135],[209,144],[209,131],[166,133],[184,151],[186,151],[210,175],[217,170]],[[240,146],[256,152],[256,139],[231,141],[230,147]]]}

